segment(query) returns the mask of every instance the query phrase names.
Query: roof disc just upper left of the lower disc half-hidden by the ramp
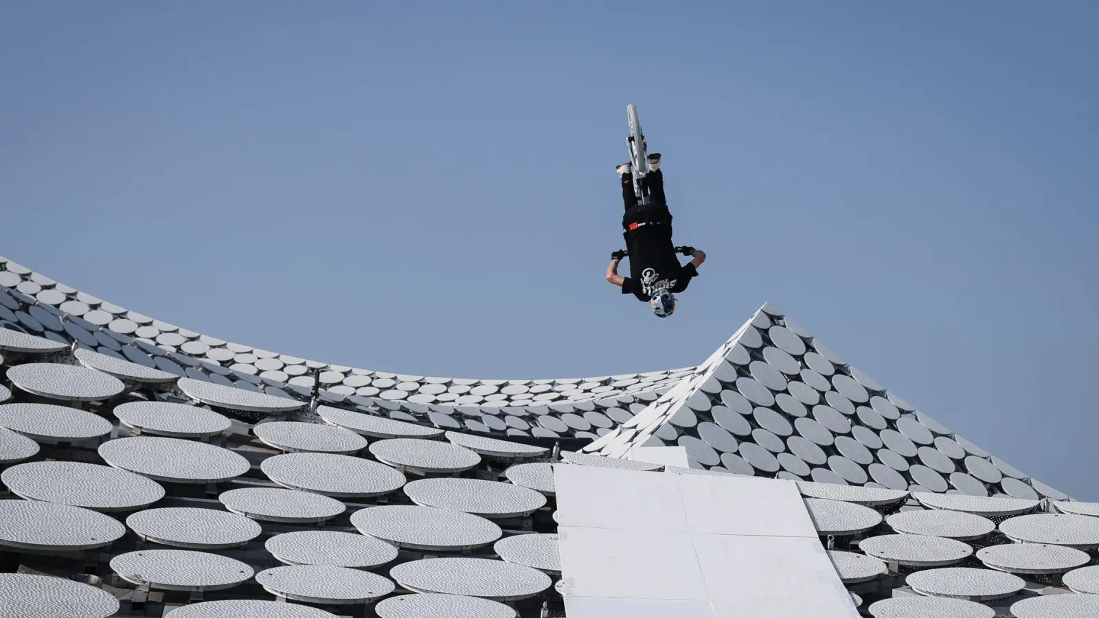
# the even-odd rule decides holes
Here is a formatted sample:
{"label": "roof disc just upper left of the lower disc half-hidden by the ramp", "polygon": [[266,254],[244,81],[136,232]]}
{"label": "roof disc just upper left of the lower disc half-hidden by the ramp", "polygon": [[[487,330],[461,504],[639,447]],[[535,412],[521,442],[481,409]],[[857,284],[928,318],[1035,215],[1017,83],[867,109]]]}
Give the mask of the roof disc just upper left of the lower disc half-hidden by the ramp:
{"label": "roof disc just upper left of the lower disc half-hidden by the ramp", "polygon": [[351,522],[368,537],[420,550],[479,548],[503,533],[499,526],[477,515],[415,505],[366,507],[353,512]]}

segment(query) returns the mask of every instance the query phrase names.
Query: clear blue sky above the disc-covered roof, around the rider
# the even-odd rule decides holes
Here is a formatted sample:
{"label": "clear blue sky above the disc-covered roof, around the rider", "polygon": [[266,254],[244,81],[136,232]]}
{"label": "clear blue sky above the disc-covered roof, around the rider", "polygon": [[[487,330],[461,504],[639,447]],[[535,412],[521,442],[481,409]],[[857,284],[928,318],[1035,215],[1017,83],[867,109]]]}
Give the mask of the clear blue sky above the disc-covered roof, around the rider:
{"label": "clear blue sky above the disc-covered roof, around the rider", "polygon": [[[381,371],[696,364],[765,301],[1099,500],[1094,2],[7,2],[0,254]],[[676,316],[603,279],[636,103]]]}

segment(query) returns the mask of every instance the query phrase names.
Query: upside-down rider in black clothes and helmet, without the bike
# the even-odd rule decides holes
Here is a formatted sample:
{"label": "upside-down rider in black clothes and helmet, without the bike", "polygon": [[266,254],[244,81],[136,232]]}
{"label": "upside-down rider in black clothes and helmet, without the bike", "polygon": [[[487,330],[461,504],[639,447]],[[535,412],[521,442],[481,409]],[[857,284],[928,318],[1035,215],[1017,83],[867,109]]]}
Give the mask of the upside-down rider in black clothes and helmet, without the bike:
{"label": "upside-down rider in black clothes and helmet, without the bike", "polygon": [[[706,253],[692,246],[671,244],[671,213],[664,197],[664,173],[659,165],[659,153],[650,154],[650,172],[641,178],[642,194],[650,198],[644,205],[634,191],[631,164],[626,162],[617,168],[625,206],[622,235],[626,250],[611,253],[607,280],[621,286],[622,294],[632,294],[637,300],[648,302],[657,317],[667,318],[676,310],[675,295],[687,289],[691,278],[698,276]],[[690,255],[693,260],[679,264],[677,254]],[[618,274],[618,265],[626,256],[630,257],[630,276],[623,277]]]}

